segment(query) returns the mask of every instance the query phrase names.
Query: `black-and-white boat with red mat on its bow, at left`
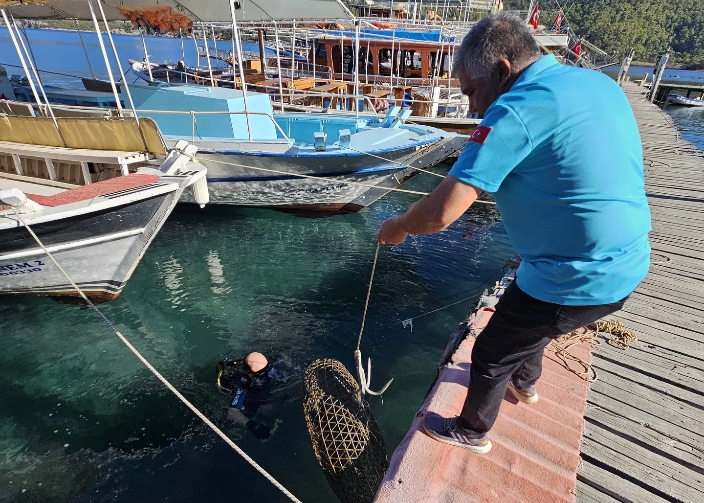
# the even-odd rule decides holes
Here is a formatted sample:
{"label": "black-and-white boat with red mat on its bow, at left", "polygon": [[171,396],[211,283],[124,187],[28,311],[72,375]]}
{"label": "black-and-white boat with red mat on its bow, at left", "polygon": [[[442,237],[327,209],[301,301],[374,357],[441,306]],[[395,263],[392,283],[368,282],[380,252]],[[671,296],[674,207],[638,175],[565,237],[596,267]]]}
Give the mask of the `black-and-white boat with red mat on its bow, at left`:
{"label": "black-and-white boat with red mat on its bow, at left", "polygon": [[88,297],[117,297],[184,189],[208,202],[206,168],[190,161],[194,151],[183,143],[158,169],[73,189],[0,173],[0,294],[77,296],[49,251]]}

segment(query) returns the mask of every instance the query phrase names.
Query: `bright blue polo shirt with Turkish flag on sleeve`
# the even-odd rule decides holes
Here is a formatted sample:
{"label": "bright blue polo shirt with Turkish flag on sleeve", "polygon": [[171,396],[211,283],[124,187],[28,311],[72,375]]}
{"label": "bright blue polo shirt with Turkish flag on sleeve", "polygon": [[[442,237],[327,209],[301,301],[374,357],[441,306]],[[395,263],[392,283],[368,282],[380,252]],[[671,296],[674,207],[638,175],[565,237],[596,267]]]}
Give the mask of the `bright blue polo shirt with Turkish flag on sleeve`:
{"label": "bright blue polo shirt with Turkish flag on sleeve", "polygon": [[536,299],[610,304],[648,272],[641,138],[603,73],[543,56],[489,107],[450,174],[494,194],[523,259],[517,284]]}

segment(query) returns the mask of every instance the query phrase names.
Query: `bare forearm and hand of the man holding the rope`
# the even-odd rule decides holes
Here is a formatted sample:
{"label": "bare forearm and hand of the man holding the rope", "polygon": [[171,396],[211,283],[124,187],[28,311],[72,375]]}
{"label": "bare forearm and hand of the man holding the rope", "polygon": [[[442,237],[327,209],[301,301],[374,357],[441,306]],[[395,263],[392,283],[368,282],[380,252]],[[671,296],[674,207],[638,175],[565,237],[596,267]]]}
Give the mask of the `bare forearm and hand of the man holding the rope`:
{"label": "bare forearm and hand of the man holding the rope", "polygon": [[433,192],[416,201],[406,213],[389,218],[379,228],[379,244],[401,244],[409,234],[445,230],[477,200],[482,190],[448,176]]}

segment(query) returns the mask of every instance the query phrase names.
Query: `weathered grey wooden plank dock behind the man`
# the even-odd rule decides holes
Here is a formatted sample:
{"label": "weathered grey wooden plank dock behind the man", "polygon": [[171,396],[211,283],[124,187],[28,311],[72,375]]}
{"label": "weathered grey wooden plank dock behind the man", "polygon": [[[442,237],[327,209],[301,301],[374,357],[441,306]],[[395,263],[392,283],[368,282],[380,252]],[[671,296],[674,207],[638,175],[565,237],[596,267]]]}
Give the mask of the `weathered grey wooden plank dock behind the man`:
{"label": "weathered grey wooden plank dock behind the man", "polygon": [[616,316],[639,341],[593,350],[577,502],[704,502],[704,154],[645,87],[624,91],[643,140],[653,265]]}

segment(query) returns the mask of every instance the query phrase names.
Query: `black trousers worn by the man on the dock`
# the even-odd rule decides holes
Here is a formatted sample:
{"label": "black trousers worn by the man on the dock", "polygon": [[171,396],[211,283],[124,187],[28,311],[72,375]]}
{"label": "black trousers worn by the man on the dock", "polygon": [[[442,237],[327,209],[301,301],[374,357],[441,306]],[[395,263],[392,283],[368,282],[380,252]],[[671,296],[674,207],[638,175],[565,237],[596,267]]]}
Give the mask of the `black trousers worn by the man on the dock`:
{"label": "black trousers worn by the man on the dock", "polygon": [[472,348],[470,387],[460,424],[477,437],[494,426],[508,380],[534,385],[551,340],[622,308],[628,297],[599,306],[561,306],[534,299],[512,282]]}

